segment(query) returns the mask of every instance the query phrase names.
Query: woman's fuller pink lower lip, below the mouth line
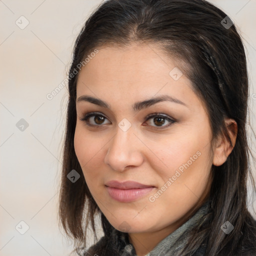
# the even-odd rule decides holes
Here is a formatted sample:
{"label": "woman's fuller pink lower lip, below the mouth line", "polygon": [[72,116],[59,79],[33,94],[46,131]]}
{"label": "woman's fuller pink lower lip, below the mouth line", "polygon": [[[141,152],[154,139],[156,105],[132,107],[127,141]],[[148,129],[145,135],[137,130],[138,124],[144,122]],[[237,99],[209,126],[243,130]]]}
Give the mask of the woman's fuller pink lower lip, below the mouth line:
{"label": "woman's fuller pink lower lip, below the mouth line", "polygon": [[131,202],[149,193],[154,187],[119,189],[107,186],[108,194],[119,202]]}

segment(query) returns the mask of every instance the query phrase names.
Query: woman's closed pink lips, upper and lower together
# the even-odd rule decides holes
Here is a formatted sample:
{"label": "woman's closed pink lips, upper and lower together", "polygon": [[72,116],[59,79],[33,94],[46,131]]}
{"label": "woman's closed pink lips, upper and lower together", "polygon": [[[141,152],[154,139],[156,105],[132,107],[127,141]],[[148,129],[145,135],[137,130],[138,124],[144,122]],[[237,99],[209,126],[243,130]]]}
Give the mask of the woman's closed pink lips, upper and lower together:
{"label": "woman's closed pink lips, upper and lower together", "polygon": [[105,184],[109,196],[119,202],[131,202],[149,193],[155,186],[136,181],[111,180]]}

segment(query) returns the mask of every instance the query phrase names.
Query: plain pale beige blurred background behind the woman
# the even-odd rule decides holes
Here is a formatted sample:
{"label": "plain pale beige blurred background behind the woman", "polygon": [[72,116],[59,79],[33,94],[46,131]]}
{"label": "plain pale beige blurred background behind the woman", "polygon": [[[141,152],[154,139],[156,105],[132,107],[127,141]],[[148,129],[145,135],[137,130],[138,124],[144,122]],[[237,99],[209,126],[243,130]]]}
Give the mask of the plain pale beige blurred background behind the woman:
{"label": "plain pale beige blurred background behind the woman", "polygon": [[[67,89],[49,93],[65,85],[75,37],[100,2],[0,0],[1,256],[63,256],[73,249],[57,220]],[[256,1],[210,2],[225,11],[243,37],[250,122],[256,130]],[[253,205],[256,209],[255,197],[250,210]]]}

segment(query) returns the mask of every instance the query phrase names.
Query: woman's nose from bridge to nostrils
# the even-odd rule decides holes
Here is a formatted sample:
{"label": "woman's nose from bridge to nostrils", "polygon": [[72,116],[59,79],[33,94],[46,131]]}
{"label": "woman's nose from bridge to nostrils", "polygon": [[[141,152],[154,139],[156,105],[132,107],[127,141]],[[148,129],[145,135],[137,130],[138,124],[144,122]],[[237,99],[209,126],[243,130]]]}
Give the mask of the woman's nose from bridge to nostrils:
{"label": "woman's nose from bridge to nostrils", "polygon": [[139,166],[143,162],[142,142],[133,133],[132,126],[123,131],[117,126],[116,133],[107,143],[108,149],[104,162],[115,171],[124,171],[126,167]]}

